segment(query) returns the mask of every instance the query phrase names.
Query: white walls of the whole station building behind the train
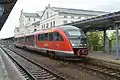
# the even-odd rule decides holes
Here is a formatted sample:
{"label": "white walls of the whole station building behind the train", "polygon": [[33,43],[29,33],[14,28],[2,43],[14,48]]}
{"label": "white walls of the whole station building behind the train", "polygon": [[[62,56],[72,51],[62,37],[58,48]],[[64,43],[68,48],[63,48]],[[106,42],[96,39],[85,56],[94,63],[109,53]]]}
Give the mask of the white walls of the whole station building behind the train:
{"label": "white walls of the whole station building behind the train", "polygon": [[[21,15],[19,18],[19,34],[27,34],[34,31],[40,31],[42,29],[48,29],[58,25],[63,25],[103,14],[102,12],[87,10],[81,10],[80,12],[80,14],[76,14],[55,11],[50,5],[48,5],[44,11],[38,12],[41,17],[25,16],[24,12],[21,11]],[[40,25],[33,25],[33,23],[35,23],[36,21],[40,21]]]}

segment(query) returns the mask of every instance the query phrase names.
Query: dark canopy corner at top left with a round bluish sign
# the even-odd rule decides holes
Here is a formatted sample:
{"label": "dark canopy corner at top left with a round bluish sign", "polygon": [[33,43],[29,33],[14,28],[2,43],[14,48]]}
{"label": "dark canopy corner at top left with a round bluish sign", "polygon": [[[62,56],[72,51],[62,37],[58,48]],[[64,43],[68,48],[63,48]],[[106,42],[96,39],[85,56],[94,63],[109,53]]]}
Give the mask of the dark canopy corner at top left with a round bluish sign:
{"label": "dark canopy corner at top left with a round bluish sign", "polygon": [[17,0],[0,0],[0,30],[6,22]]}

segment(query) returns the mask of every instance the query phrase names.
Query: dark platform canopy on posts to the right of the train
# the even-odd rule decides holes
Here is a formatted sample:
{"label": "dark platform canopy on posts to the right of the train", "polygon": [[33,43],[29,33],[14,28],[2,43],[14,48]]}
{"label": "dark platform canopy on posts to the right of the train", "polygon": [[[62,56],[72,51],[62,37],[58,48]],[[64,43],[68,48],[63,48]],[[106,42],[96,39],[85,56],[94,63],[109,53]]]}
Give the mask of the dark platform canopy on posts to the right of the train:
{"label": "dark platform canopy on posts to the right of the train", "polygon": [[115,24],[120,22],[120,11],[113,12],[85,20],[80,20],[74,23],[68,23],[66,25],[74,25],[78,28],[82,28],[85,31],[103,31],[107,29],[115,29]]}

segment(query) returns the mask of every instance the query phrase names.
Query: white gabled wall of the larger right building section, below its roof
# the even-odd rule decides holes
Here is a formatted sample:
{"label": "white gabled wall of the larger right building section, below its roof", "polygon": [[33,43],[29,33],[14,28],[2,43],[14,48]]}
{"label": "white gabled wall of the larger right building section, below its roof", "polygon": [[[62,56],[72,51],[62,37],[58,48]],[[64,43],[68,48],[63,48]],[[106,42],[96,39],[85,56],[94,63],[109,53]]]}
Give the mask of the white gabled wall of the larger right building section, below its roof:
{"label": "white gabled wall of the larger right building section, below its roof", "polygon": [[91,17],[95,17],[95,15],[93,15],[92,13],[91,15],[86,15],[55,12],[52,7],[48,6],[46,7],[40,20],[39,30],[48,29],[58,25],[63,25],[66,23],[71,23]]}

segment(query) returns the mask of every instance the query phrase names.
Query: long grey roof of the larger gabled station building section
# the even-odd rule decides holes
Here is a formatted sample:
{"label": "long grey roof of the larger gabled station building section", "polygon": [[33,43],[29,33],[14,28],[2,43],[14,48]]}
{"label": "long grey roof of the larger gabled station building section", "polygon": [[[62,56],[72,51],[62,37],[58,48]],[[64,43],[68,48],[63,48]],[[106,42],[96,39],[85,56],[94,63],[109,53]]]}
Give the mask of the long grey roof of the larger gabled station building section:
{"label": "long grey roof of the larger gabled station building section", "polygon": [[102,15],[107,14],[109,12],[104,11],[93,11],[93,10],[83,10],[83,9],[72,9],[72,8],[60,8],[60,7],[52,7],[54,11],[61,13],[71,13],[71,14],[87,14],[87,15]]}

